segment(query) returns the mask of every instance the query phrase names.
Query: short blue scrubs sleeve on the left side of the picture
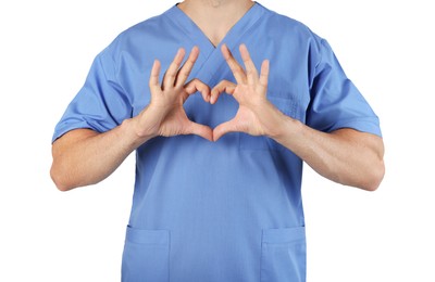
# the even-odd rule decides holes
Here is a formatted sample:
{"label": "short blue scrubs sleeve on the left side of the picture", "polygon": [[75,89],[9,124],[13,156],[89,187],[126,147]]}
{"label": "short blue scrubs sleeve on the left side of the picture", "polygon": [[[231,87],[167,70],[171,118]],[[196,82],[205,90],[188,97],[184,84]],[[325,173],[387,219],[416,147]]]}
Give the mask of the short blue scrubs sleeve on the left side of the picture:
{"label": "short blue scrubs sleeve on the left side of the picture", "polygon": [[85,85],[58,123],[52,142],[70,130],[108,131],[132,117],[132,103],[116,82],[115,63],[108,49],[97,55]]}

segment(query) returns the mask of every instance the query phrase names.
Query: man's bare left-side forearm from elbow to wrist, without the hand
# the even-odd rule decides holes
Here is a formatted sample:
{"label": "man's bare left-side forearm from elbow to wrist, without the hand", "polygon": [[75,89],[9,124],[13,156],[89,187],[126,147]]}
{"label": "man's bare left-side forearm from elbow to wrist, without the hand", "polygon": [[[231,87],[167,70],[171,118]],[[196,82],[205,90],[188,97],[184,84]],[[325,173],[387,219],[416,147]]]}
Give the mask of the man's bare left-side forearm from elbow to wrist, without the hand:
{"label": "man's bare left-side forearm from elbow to wrist, without the hand", "polygon": [[150,137],[138,137],[133,119],[98,133],[76,129],[52,146],[51,177],[61,191],[97,183],[110,176],[122,162]]}

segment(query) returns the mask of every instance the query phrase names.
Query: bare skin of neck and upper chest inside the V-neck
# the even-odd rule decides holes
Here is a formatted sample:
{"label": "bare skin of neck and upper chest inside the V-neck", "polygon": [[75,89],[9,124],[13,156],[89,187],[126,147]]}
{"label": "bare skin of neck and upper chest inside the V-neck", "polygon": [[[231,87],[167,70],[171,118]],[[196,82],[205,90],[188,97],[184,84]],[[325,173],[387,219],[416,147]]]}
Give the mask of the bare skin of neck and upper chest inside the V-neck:
{"label": "bare skin of neck and upper chest inside the V-neck", "polygon": [[178,8],[217,46],[252,5],[251,0],[185,0]]}

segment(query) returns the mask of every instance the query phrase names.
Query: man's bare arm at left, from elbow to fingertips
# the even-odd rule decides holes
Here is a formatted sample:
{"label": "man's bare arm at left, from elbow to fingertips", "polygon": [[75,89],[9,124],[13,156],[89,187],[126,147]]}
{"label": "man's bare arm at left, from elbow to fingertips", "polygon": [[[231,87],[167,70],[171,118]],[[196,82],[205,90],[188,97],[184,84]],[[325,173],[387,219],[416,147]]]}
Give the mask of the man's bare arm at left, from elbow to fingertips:
{"label": "man's bare arm at left, from elbow to fingertips", "polygon": [[209,101],[207,85],[198,79],[186,82],[198,54],[199,49],[194,47],[182,66],[185,50],[181,48],[162,82],[160,62],[154,61],[149,80],[151,102],[137,116],[104,133],[76,129],[58,139],[50,171],[57,187],[66,191],[105,179],[134,150],[157,136],[197,134],[212,140],[211,128],[189,120],[183,107],[197,91]]}

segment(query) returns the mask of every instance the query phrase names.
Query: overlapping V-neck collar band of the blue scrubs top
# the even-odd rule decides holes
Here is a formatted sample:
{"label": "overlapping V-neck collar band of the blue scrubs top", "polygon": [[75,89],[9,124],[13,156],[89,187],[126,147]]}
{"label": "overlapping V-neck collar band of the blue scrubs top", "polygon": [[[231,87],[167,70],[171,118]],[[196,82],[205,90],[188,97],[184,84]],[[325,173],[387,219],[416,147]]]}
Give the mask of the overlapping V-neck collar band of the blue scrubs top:
{"label": "overlapping V-neck collar band of the blue scrubs top", "polygon": [[[216,69],[225,62],[221,53],[221,46],[225,43],[229,50],[238,47],[244,35],[260,20],[265,9],[259,3],[254,4],[238,20],[238,22],[228,30],[222,41],[214,47],[204,33],[195,24],[191,18],[185,14],[177,5],[174,5],[165,12],[176,27],[186,35],[194,46],[198,46],[200,53],[196,65],[199,67],[194,72],[196,77],[206,84],[212,82]],[[241,42],[240,42],[241,43]]]}

